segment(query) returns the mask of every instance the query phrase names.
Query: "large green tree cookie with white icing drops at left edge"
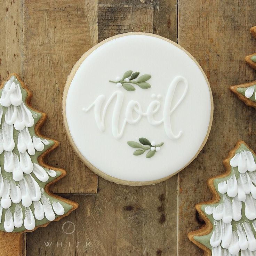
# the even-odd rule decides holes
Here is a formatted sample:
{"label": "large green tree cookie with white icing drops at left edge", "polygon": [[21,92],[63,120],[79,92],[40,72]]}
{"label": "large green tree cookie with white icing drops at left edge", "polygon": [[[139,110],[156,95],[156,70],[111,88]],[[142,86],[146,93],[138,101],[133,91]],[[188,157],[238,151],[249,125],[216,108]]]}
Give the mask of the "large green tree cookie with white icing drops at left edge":
{"label": "large green tree cookie with white icing drops at left edge", "polygon": [[[58,142],[40,135],[46,114],[30,106],[31,92],[16,74],[0,90],[0,230],[2,244],[15,232],[32,231],[58,220],[77,204],[49,191],[65,175],[43,157]],[[7,232],[10,233],[7,235]],[[12,232],[12,233],[11,233]],[[17,235],[16,235],[17,237]],[[18,248],[16,248],[18,250]]]}

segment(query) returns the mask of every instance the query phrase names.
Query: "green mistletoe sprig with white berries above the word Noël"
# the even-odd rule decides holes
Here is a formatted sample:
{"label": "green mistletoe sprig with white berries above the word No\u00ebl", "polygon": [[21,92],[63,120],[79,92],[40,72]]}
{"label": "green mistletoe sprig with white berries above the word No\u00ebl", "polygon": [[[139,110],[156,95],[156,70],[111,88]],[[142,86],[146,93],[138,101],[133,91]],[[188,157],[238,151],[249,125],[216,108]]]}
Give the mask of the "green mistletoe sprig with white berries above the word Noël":
{"label": "green mistletoe sprig with white berries above the word No\u00ebl", "polygon": [[[149,89],[151,85],[149,83],[146,83],[147,80],[151,78],[151,75],[141,75],[136,81],[133,81],[136,79],[139,75],[139,72],[133,73],[133,71],[128,70],[123,74],[123,77],[117,77],[115,81],[109,80],[111,83],[116,83],[117,87],[123,87],[127,91],[135,91],[135,87],[133,85],[137,85],[141,87],[142,89]],[[133,84],[133,85],[132,85]]]}

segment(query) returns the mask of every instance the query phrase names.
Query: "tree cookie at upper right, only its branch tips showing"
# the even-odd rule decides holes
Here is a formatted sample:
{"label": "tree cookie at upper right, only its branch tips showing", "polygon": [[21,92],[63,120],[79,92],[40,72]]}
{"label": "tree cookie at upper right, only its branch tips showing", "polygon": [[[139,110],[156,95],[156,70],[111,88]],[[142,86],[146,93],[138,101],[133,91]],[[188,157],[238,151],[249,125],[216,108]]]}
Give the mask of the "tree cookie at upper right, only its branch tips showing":
{"label": "tree cookie at upper right, only its branch tips showing", "polygon": [[[256,38],[256,26],[251,27],[251,34]],[[256,53],[245,57],[245,61],[256,70]],[[246,105],[256,108],[256,80],[241,85],[234,85],[230,90],[235,93]]]}

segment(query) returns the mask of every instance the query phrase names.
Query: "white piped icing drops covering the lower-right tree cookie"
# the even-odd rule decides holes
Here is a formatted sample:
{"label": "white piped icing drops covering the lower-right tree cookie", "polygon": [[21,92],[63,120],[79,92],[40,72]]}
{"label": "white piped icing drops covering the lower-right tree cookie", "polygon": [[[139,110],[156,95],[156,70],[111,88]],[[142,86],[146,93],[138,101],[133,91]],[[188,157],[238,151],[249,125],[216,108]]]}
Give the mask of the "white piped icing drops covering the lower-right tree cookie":
{"label": "white piped icing drops covering the lower-right tree cookie", "polygon": [[[234,155],[230,165],[238,171],[218,183],[222,200],[216,206],[205,207],[205,213],[214,218],[212,255],[255,256],[256,163],[250,151],[242,150]],[[242,211],[246,219],[242,218]]]}

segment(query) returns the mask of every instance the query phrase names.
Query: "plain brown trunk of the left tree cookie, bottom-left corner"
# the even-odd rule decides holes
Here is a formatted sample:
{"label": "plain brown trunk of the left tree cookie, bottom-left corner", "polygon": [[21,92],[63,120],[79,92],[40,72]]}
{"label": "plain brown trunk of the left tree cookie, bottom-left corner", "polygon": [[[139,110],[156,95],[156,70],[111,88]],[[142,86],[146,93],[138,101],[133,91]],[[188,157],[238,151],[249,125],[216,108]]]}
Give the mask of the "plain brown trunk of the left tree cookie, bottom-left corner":
{"label": "plain brown trunk of the left tree cookie, bottom-left corner", "polygon": [[0,231],[0,256],[24,256],[25,233]]}

